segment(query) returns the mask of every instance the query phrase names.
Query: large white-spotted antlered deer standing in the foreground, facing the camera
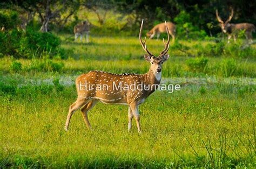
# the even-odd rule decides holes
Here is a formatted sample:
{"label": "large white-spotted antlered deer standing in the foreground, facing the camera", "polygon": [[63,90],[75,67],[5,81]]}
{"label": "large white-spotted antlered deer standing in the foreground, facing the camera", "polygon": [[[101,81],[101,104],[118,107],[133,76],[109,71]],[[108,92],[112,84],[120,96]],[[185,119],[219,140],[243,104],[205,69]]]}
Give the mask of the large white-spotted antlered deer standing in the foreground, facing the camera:
{"label": "large white-spotted antlered deer standing in the foreground, facing the camera", "polygon": [[[146,74],[112,74],[102,71],[91,71],[78,76],[76,79],[78,97],[77,101],[70,105],[69,114],[65,124],[66,131],[69,129],[71,116],[78,109],[82,111],[87,128],[91,129],[87,113],[98,101],[100,101],[106,104],[128,105],[128,130],[131,129],[132,118],[134,116],[138,132],[141,132],[138,106],[139,104],[142,104],[154,90],[156,90],[154,87],[159,85],[163,62],[169,58],[167,52],[170,43],[169,30],[166,24],[168,35],[167,43],[165,44],[164,42],[164,51],[162,51],[158,57],[154,57],[154,55],[146,48],[146,37],[144,42],[142,41],[142,29],[143,19],[139,31],[139,40],[143,50],[147,52],[147,54],[144,54],[144,58],[151,64],[149,72]],[[139,84],[145,88],[139,88]],[[123,86],[123,88],[120,87],[114,89],[114,86]],[[100,90],[99,88],[97,89],[97,87],[103,87],[103,89]]]}

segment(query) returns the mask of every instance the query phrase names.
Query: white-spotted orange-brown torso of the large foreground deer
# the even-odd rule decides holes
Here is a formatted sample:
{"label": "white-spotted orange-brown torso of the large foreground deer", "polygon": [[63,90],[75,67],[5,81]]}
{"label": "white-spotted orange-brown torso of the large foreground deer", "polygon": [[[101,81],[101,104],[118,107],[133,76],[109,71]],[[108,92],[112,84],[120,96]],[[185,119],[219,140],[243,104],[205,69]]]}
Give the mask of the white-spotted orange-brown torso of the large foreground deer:
{"label": "white-spotted orange-brown torso of the large foreground deer", "polygon": [[[136,100],[145,100],[153,92],[151,83],[156,82],[151,81],[146,74],[91,71],[78,76],[76,87],[80,99],[96,98],[108,104],[129,104]],[[145,85],[150,87],[149,90],[143,90]]]}

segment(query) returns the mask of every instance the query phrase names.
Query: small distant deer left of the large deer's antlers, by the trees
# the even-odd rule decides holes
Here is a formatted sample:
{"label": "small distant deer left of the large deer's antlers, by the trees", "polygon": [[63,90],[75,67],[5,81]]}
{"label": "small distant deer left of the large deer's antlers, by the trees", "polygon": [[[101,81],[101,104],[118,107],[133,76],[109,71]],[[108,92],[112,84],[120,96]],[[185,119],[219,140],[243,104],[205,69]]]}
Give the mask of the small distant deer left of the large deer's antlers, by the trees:
{"label": "small distant deer left of the large deer's antlers, by the trees", "polygon": [[74,26],[74,33],[75,33],[75,41],[80,36],[80,41],[83,39],[84,33],[86,33],[86,43],[89,43],[89,31],[90,31],[90,24],[86,21],[82,21],[81,23]]}

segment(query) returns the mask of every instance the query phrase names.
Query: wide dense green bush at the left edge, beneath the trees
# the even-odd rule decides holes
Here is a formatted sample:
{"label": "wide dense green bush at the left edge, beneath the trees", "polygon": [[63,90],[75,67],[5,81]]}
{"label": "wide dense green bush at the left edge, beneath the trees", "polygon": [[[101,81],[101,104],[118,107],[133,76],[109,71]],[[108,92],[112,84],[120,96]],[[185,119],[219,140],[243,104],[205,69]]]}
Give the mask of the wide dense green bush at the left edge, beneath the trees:
{"label": "wide dense green bush at the left edge, beneath the trees", "polygon": [[[1,55],[13,55],[15,58],[31,59],[31,51],[50,53],[50,58],[54,55],[63,55],[60,46],[60,39],[51,33],[42,33],[27,29],[26,32],[10,30],[0,32]],[[40,55],[38,55],[40,56]]]}

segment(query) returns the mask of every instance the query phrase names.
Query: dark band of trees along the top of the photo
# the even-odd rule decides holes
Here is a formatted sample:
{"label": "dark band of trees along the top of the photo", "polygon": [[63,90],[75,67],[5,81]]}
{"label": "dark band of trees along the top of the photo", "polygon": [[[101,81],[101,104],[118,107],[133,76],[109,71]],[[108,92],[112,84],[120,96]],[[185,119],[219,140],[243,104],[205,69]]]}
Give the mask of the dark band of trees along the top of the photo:
{"label": "dark band of trees along the top of the photo", "polygon": [[[194,26],[194,30],[204,30],[207,34],[217,34],[220,32],[215,10],[226,20],[231,9],[234,10],[234,17],[231,23],[252,23],[256,25],[256,3],[255,1],[241,0],[25,0],[25,1],[2,1],[1,8],[6,6],[19,6],[30,13],[38,13],[41,19],[41,31],[47,29],[48,23],[55,22],[59,27],[64,27],[68,18],[76,15],[79,7],[95,10],[114,10],[124,15],[132,14],[135,19],[127,23],[124,30],[137,30],[141,18],[147,22],[147,28],[156,23],[170,20],[181,27]],[[49,7],[50,6],[50,7]],[[52,7],[53,6],[53,7]],[[60,16],[68,13],[65,17]],[[61,18],[61,19],[60,19]],[[99,18],[99,23],[104,24],[104,16]],[[55,24],[55,25],[56,25]],[[185,25],[184,25],[185,24]]]}

